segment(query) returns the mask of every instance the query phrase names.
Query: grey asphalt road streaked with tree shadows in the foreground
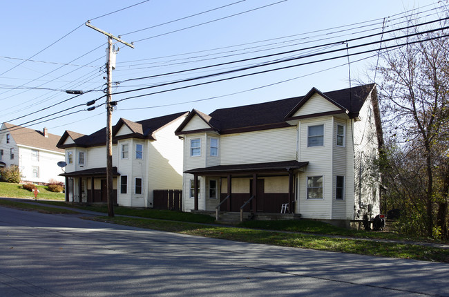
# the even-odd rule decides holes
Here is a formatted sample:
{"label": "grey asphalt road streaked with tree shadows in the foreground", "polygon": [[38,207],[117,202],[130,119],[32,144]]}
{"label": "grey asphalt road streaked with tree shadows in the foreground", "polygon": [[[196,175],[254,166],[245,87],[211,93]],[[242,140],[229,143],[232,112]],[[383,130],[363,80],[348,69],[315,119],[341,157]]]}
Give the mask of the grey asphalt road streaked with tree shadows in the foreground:
{"label": "grey asphalt road streaked with tree shadows in the foreground", "polygon": [[0,207],[0,296],[449,296],[449,265]]}

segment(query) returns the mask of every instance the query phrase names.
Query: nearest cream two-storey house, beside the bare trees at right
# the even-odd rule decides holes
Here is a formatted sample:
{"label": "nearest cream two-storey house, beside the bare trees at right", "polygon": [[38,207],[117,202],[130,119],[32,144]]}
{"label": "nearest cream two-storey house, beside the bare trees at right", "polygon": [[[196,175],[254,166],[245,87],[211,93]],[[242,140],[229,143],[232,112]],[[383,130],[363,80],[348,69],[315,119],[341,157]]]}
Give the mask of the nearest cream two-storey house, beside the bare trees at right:
{"label": "nearest cream two-storey house, beside the bare trees at right", "polygon": [[312,88],[210,115],[193,110],[175,131],[184,139],[183,210],[214,211],[225,201],[220,211],[240,211],[254,197],[244,211],[280,213],[285,204],[301,218],[345,225],[373,218],[381,126],[372,99],[374,84]]}

